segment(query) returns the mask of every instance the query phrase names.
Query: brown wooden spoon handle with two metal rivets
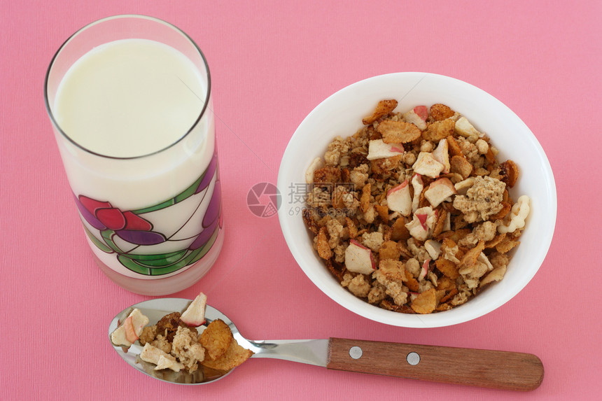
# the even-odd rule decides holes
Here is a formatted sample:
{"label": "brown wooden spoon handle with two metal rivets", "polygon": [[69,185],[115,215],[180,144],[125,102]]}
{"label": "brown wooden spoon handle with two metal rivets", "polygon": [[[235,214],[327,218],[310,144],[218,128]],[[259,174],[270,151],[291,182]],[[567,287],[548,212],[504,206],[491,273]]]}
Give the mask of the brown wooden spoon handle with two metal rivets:
{"label": "brown wooden spoon handle with two metal rivets", "polygon": [[328,369],[531,391],[543,365],[530,353],[330,338]]}

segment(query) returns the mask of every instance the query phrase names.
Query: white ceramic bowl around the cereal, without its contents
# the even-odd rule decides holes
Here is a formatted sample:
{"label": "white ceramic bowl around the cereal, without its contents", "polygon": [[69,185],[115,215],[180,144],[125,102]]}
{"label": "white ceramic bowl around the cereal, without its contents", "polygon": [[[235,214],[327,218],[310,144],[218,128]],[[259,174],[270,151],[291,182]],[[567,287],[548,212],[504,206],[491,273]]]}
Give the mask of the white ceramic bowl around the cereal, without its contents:
{"label": "white ceramic bowl around the cereal, without its contents", "polygon": [[[311,160],[323,156],[335,136],[349,136],[362,127],[381,99],[397,99],[395,111],[418,105],[447,104],[486,132],[500,153],[498,160],[514,160],[519,181],[511,190],[531,197],[531,213],[521,244],[515,248],[502,281],[449,311],[430,315],[400,314],[380,309],[342,288],[312,248],[304,226],[299,195]],[[391,73],[349,85],[318,104],[290,139],[278,174],[282,195],[279,220],[293,257],[311,281],[328,297],[360,316],[408,328],[434,328],[470,321],[493,311],[526,286],[542,264],[556,223],[556,186],[547,157],[533,133],[510,108],[479,88],[455,78],[432,73]]]}

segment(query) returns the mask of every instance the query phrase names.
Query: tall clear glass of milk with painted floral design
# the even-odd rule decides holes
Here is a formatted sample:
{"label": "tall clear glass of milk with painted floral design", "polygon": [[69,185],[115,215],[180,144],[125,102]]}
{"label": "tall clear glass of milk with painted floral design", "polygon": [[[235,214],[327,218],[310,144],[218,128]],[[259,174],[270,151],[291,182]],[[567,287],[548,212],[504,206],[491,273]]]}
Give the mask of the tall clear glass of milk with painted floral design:
{"label": "tall clear glass of milk with painted floral design", "polygon": [[200,48],[162,20],[105,18],[59,48],[44,95],[102,272],[144,295],[192,286],[223,244],[211,79]]}

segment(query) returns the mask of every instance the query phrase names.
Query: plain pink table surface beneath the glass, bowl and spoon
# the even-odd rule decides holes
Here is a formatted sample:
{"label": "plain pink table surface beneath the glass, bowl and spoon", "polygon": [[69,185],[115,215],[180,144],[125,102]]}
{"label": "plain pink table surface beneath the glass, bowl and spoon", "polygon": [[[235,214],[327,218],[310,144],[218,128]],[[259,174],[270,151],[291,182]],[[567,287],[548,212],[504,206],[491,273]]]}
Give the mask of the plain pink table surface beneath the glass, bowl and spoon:
{"label": "plain pink table surface beneath the glass, bowl and spoon", "polygon": [[[148,297],[94,266],[43,104],[59,45],[120,13],[176,24],[211,66],[227,237],[211,272],[176,296],[204,291],[253,339],[535,353],[545,365],[540,388],[494,391],[267,359],[209,386],[175,386],[127,366],[107,327]],[[600,1],[1,0],[0,15],[0,400],[600,399]],[[335,304],[295,264],[276,216],[246,206],[255,183],[276,183],[286,144],[314,106],[397,71],[453,76],[498,97],[531,128],[556,178],[556,232],[533,281],[498,310],[447,328],[389,327]]]}

